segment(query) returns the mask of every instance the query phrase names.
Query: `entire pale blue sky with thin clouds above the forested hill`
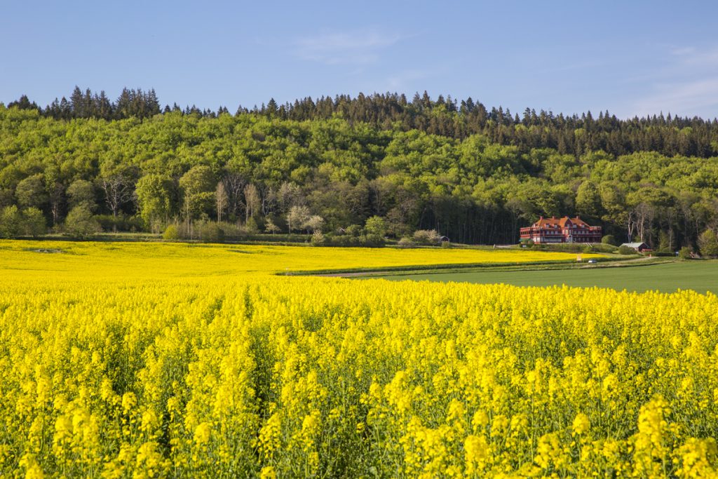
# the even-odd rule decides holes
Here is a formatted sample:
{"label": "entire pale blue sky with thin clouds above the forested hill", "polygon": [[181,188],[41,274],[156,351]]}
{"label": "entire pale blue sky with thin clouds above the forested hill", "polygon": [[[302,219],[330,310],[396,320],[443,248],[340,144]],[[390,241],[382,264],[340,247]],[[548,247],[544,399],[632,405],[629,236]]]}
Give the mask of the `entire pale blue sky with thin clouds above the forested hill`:
{"label": "entire pale blue sky with thin clouds above the forested hill", "polygon": [[718,116],[715,1],[4,1],[0,101],[427,90],[486,106]]}

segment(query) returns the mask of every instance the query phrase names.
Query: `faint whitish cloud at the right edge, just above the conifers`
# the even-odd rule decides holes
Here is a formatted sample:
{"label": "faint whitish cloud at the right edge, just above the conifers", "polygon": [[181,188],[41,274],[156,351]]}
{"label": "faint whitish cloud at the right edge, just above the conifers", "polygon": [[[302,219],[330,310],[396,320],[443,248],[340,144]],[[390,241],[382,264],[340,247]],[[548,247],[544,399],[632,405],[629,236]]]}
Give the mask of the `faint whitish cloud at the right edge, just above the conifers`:
{"label": "faint whitish cloud at the right edge, just above the conifers", "polygon": [[671,47],[663,67],[645,80],[631,109],[638,115],[718,116],[718,46]]}

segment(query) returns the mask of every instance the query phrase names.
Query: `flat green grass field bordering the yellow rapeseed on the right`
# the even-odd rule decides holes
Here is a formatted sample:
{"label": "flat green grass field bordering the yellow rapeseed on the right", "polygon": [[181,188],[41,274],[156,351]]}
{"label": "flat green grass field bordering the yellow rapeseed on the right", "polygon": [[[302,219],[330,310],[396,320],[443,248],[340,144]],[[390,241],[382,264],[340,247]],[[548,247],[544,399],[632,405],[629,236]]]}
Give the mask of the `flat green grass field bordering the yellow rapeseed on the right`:
{"label": "flat green grass field bordering the yellow rapeseed on the right", "polygon": [[718,294],[718,261],[685,261],[623,268],[559,269],[548,271],[467,271],[381,276],[392,281],[504,283],[516,286],[602,287],[643,292],[693,289]]}

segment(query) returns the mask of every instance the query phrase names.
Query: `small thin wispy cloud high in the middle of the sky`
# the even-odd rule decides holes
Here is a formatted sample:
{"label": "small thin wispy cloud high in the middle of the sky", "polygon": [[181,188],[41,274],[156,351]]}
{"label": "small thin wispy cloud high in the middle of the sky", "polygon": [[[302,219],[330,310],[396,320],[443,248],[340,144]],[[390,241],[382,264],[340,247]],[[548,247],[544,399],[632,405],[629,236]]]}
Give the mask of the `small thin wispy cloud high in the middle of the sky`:
{"label": "small thin wispy cloud high in the middle of the sky", "polygon": [[294,42],[294,53],[301,60],[325,65],[365,65],[376,62],[382,50],[401,40],[397,33],[376,30],[322,33]]}

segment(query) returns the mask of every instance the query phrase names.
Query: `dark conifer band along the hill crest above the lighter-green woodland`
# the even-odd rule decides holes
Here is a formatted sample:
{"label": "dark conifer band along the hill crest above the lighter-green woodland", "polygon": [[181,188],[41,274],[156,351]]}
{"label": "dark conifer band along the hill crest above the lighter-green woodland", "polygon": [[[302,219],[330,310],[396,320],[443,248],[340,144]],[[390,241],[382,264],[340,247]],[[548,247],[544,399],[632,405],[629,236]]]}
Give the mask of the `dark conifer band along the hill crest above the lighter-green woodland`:
{"label": "dark conifer band along the hill crest above the lighter-green woodland", "polygon": [[[55,99],[45,108],[31,102],[27,96],[9,103],[18,108],[37,110],[42,116],[55,119],[148,118],[161,111],[216,118],[230,113],[220,106],[217,110],[200,110],[196,106],[180,108],[176,103],[160,109],[154,90],[125,88],[116,101],[106,94],[75,90],[67,99]],[[551,148],[560,154],[582,154],[593,151],[615,156],[633,152],[658,152],[669,157],[676,154],[708,158],[718,154],[718,121],[679,116],[656,116],[620,120],[608,111],[598,116],[590,111],[582,115],[565,116],[552,111],[526,108],[519,115],[508,108],[487,108],[472,98],[457,101],[439,95],[432,99],[424,92],[416,93],[411,101],[397,93],[359,94],[322,98],[302,98],[293,103],[279,104],[274,99],[266,105],[236,109],[236,116],[264,116],[270,119],[307,121],[342,118],[350,124],[365,123],[388,131],[419,130],[428,134],[465,139],[482,135],[492,143],[518,147],[522,153],[531,149]]]}

